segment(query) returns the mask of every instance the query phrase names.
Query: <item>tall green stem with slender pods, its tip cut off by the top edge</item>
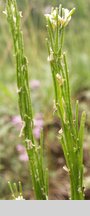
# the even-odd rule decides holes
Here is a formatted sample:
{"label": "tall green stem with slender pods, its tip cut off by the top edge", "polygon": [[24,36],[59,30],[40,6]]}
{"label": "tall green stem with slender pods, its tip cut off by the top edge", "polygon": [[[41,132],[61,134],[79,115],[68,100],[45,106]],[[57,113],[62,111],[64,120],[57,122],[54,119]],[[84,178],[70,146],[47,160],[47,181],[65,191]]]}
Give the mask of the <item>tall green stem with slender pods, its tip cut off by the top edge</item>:
{"label": "tall green stem with slender pods, its tip cut off by the top edge", "polygon": [[28,80],[28,62],[24,54],[23,34],[20,27],[22,14],[17,9],[16,0],[7,0],[5,14],[10,25],[16,57],[17,92],[19,110],[23,122],[20,136],[24,134],[35,197],[38,200],[46,200],[48,199],[47,170],[43,165],[41,151],[43,145],[38,146],[33,136],[33,114]]}

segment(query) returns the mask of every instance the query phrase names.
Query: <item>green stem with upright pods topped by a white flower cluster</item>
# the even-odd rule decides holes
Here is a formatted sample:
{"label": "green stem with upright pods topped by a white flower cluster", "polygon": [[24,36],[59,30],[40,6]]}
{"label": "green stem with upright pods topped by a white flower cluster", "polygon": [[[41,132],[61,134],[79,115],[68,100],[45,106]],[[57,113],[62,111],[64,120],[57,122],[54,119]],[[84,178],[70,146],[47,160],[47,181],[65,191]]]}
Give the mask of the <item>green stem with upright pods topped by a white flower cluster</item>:
{"label": "green stem with upright pods topped by a white flower cluster", "polygon": [[74,11],[74,8],[69,12],[60,6],[59,10],[57,8],[53,9],[50,15],[46,15],[46,18],[48,26],[48,59],[53,77],[56,110],[62,125],[59,138],[70,176],[70,198],[72,200],[83,200],[83,135],[85,113],[82,114],[79,128],[78,104],[76,104],[76,116],[73,119],[69,72],[66,55],[62,50],[65,27],[69,23]]}

